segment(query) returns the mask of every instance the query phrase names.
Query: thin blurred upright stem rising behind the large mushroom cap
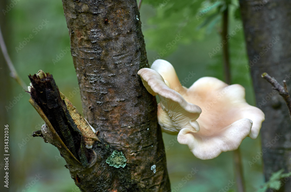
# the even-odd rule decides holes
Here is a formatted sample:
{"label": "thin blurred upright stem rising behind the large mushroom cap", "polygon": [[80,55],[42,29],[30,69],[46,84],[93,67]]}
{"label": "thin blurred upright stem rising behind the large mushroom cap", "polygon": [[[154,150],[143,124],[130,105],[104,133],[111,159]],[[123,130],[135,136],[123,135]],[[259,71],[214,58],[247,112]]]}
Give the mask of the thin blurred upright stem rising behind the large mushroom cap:
{"label": "thin blurred upright stem rising behind the large mushroom cap", "polygon": [[[223,70],[224,70],[224,80],[227,84],[230,84],[230,61],[229,61],[229,50],[228,50],[228,5],[226,9],[223,11],[223,19],[222,19],[222,43],[223,43]],[[242,158],[240,155],[239,148],[233,151],[233,159],[234,159],[234,169],[235,169],[235,179],[237,183],[237,191],[244,192],[244,173],[242,169]]]}

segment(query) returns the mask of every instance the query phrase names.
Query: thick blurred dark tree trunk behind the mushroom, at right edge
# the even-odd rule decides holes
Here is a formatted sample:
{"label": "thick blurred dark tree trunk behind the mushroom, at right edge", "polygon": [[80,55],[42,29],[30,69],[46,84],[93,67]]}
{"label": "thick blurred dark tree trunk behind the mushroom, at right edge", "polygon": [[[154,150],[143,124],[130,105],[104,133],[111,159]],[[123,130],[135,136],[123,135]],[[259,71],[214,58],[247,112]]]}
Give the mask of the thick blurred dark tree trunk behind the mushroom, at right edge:
{"label": "thick blurred dark tree trunk behind the mushroom, at right edge", "polygon": [[[291,2],[240,0],[249,66],[256,103],[265,113],[262,124],[264,174],[269,180],[280,169],[291,171],[291,122],[283,98],[261,77],[266,72],[281,85],[291,81]],[[286,181],[287,180],[287,181]],[[283,180],[279,191],[291,191],[291,179]],[[269,189],[269,191],[272,191]]]}

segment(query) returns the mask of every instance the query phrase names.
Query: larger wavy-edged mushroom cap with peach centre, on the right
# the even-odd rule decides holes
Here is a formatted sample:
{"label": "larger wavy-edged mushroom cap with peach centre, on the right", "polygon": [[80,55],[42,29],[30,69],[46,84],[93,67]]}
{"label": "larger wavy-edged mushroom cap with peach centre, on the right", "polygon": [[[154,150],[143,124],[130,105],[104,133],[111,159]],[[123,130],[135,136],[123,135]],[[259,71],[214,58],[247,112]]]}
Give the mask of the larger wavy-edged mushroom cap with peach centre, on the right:
{"label": "larger wavy-edged mushroom cap with peach centre, on the right", "polygon": [[178,142],[187,144],[200,159],[212,159],[221,152],[236,150],[245,137],[258,137],[264,113],[246,103],[241,85],[228,85],[214,77],[198,79],[183,95],[202,108],[198,133],[182,129]]}

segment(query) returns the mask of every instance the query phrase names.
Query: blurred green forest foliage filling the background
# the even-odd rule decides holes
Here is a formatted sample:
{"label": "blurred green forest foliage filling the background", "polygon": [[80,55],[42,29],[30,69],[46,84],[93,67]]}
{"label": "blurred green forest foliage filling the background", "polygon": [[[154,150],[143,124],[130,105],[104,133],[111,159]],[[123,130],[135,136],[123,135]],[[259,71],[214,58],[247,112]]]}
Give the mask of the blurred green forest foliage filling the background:
{"label": "blurred green forest foliage filling the background", "polygon": [[[221,5],[223,2],[218,1],[144,0],[141,21],[149,63],[159,58],[168,60],[175,67],[180,80],[193,71],[195,76],[184,84],[186,87],[204,76],[223,80],[222,50],[219,47],[221,17],[217,12],[222,8]],[[246,100],[254,105],[250,73],[246,68],[248,59],[243,29],[236,31],[237,26],[242,25],[237,7],[237,2],[231,2],[229,47],[232,83],[244,86]],[[5,29],[8,32],[6,44],[22,79],[29,84],[27,75],[37,73],[40,69],[53,74],[59,90],[67,96],[71,95],[69,98],[72,103],[82,111],[72,57],[70,52],[65,52],[70,47],[70,39],[62,2],[17,1],[5,17],[8,23],[8,28]],[[40,27],[43,19],[49,22]],[[35,28],[39,29],[37,33]],[[33,38],[29,38],[30,35]],[[20,47],[26,41],[25,38],[29,38],[29,41],[17,52],[16,47]],[[215,49],[217,53],[214,54]],[[210,53],[214,55],[210,57]],[[20,93],[24,95],[7,112],[13,157],[10,177],[13,185],[10,191],[79,191],[70,178],[68,169],[64,167],[65,161],[58,150],[51,144],[44,143],[41,138],[29,136],[33,131],[39,130],[44,122],[29,104],[29,94],[12,79],[10,81],[11,99],[6,104],[9,105]],[[199,160],[189,151],[188,146],[179,144],[176,138],[177,136],[163,134],[165,146],[169,146],[166,156],[173,191],[213,192],[226,189],[230,182],[235,181],[232,152],[222,153],[213,160]],[[260,138],[246,138],[242,142],[241,152],[246,189],[256,191],[264,184],[262,158],[252,165],[249,162],[261,152]],[[191,171],[195,168],[198,171],[192,175]],[[28,188],[36,174],[40,174],[40,180]],[[227,190],[236,191],[235,184]]]}

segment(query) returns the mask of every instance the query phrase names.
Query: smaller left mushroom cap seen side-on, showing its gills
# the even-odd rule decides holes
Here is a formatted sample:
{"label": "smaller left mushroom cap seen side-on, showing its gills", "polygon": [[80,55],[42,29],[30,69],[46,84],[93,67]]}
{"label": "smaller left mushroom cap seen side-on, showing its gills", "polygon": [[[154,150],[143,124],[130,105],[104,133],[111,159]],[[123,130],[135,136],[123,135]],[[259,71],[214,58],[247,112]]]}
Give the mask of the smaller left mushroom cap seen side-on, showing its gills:
{"label": "smaller left mushroom cap seen side-on, showing its gills", "polygon": [[143,68],[138,74],[148,92],[159,95],[159,111],[164,115],[158,115],[158,121],[163,131],[176,134],[182,128],[199,131],[196,119],[201,113],[200,107],[186,102],[182,95],[166,85],[163,77],[155,70]]}

